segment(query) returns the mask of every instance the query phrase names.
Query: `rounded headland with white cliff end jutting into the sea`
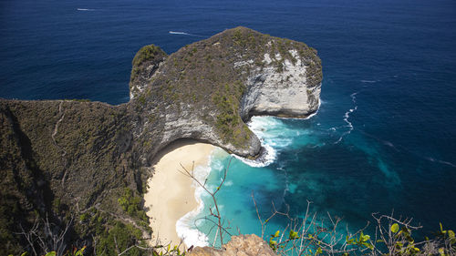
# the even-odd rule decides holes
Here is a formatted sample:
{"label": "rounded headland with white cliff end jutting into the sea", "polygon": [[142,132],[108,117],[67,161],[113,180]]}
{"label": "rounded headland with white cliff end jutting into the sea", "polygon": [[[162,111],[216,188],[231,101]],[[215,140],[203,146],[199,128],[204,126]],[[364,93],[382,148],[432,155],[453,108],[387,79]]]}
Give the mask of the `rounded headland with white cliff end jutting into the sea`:
{"label": "rounded headland with white cliff end jutting into the sea", "polygon": [[[305,118],[318,108],[321,63],[304,43],[237,27],[166,58],[156,46],[153,51],[159,57],[150,56],[142,65],[156,71],[143,72],[140,79],[149,84],[130,81],[130,108],[141,113],[135,137],[150,145],[142,148],[144,163],[177,138],[255,157],[260,142],[245,120],[252,115]],[[163,61],[157,64],[157,59]]]}

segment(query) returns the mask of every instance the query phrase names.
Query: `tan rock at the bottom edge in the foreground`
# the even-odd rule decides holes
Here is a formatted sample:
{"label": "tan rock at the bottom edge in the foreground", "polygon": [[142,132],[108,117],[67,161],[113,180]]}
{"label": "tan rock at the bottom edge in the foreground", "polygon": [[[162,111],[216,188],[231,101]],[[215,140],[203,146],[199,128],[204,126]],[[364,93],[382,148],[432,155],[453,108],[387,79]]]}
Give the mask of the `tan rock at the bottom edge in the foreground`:
{"label": "tan rock at the bottom edge in the foreground", "polygon": [[276,256],[269,245],[256,235],[240,235],[231,237],[231,241],[223,245],[222,250],[212,247],[197,247],[189,256]]}

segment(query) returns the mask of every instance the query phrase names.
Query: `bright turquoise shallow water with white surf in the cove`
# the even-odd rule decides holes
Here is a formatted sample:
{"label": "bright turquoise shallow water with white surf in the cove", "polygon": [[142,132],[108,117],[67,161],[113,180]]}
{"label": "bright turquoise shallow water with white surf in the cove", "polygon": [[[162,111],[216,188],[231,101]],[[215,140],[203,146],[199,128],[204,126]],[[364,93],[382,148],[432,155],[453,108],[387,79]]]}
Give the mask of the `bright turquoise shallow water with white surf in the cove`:
{"label": "bright turquoise shallow water with white surf in the cove", "polygon": [[[249,127],[261,138],[266,148],[265,158],[259,161],[237,158],[223,151],[215,149],[212,153],[210,168],[211,172],[207,176],[207,187],[214,191],[219,187],[223,180],[225,169],[226,179],[222,188],[216,194],[219,210],[223,216],[224,227],[232,235],[238,233],[256,233],[261,235],[262,229],[258,214],[254,206],[254,200],[262,220],[267,219],[276,210],[286,211],[285,197],[288,193],[302,191],[303,183],[309,188],[317,189],[319,185],[315,180],[293,180],[288,178],[285,170],[287,163],[282,161],[282,154],[286,151],[299,148],[317,148],[325,145],[320,138],[315,136],[315,132],[310,128],[298,128],[289,126],[286,122],[297,120],[287,120],[274,117],[254,117],[249,123]],[[305,124],[310,120],[299,120]],[[296,158],[295,161],[303,162],[305,159]],[[212,197],[206,192],[199,192],[204,202],[204,210],[189,223],[193,229],[201,230],[207,234],[205,238],[211,244],[215,240],[218,232],[212,221],[215,220],[210,215],[210,208],[214,211]],[[253,199],[254,195],[254,199]],[[274,205],[274,206],[273,206]],[[304,215],[305,212],[293,212],[292,217]],[[281,217],[272,219],[265,226],[264,234],[268,237],[275,230],[283,230],[286,220]],[[285,221],[285,222],[284,222]],[[225,235],[225,239],[229,236]],[[218,235],[218,234],[217,234]],[[215,240],[215,244],[220,244]]]}

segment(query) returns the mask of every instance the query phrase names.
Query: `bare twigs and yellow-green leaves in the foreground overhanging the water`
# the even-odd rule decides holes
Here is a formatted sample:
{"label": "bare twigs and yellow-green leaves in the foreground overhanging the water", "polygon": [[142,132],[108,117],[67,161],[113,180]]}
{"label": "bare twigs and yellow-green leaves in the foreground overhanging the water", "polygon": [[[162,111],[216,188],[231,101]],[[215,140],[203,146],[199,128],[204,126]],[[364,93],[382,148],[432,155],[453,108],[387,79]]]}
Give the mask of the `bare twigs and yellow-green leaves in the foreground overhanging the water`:
{"label": "bare twigs and yellow-green leaves in the foreground overhanging the water", "polygon": [[[223,247],[223,237],[231,235],[228,230],[231,229],[223,220],[218,210],[216,193],[223,187],[227,178],[228,169],[231,160],[223,170],[223,176],[220,178],[216,189],[206,187],[206,183],[201,183],[194,177],[192,170],[184,169],[182,172],[189,178],[195,180],[213,200],[212,210],[202,221],[212,224],[211,230],[219,230],[215,234],[220,237],[220,247]],[[286,211],[276,210],[274,202],[272,203],[273,211],[269,216],[264,216],[264,211],[258,209],[258,205],[252,193],[252,200],[257,214],[258,222],[261,226],[261,237],[264,238],[267,226],[271,220],[280,218],[278,223],[285,226],[284,230],[276,230],[270,235],[267,244],[277,253],[283,256],[317,256],[317,255],[369,255],[369,256],[414,256],[414,255],[456,255],[456,235],[453,230],[443,229],[440,223],[440,231],[434,233],[431,239],[426,237],[424,241],[418,241],[413,236],[413,232],[420,230],[421,226],[412,224],[413,219],[394,218],[391,215],[381,215],[373,213],[373,227],[368,224],[361,230],[350,231],[347,226],[343,226],[339,217],[318,216],[317,212],[311,211],[311,201],[307,200],[306,214],[303,216],[292,217],[289,214],[289,207]],[[260,214],[260,212],[263,212]],[[214,219],[215,220],[212,220]],[[204,225],[206,225],[205,223]],[[200,223],[200,225],[202,225]],[[369,235],[368,232],[371,232]],[[232,240],[233,241],[233,240]],[[267,240],[266,240],[267,241]],[[246,243],[248,244],[248,243]],[[246,249],[244,249],[246,250]],[[243,251],[244,252],[244,251]],[[209,254],[211,255],[211,254]],[[269,254],[268,254],[269,255]]]}

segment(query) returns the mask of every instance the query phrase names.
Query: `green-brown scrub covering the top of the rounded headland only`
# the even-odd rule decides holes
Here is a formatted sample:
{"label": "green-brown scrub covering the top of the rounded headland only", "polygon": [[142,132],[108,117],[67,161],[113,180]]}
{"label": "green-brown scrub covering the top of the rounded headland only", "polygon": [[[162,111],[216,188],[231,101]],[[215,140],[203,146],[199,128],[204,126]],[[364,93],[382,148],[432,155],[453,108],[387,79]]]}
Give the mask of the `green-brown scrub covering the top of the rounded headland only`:
{"label": "green-brown scrub covering the top of the rounded headland only", "polygon": [[[296,49],[300,54],[293,56],[290,52],[292,49]],[[155,54],[158,51],[157,48],[150,50]],[[233,55],[234,52],[238,54]],[[139,93],[136,97],[136,109],[144,111],[156,109],[157,105],[160,105],[160,111],[164,115],[199,113],[200,118],[216,128],[224,143],[229,142],[240,148],[248,147],[252,135],[239,117],[240,102],[246,78],[252,75],[252,72],[257,72],[257,67],[265,66],[266,53],[271,56],[272,65],[278,72],[284,71],[285,60],[296,63],[297,59],[301,58],[307,69],[311,70],[308,76],[312,85],[317,86],[321,82],[320,60],[316,52],[306,44],[263,35],[245,27],[236,27],[219,36],[185,46],[172,54],[170,61],[161,65],[161,72],[148,81],[150,90]],[[141,50],[137,56],[138,59],[143,56]],[[233,68],[234,63],[247,60],[245,65]],[[137,73],[145,72],[144,67],[135,69],[138,65],[133,66],[133,77]],[[136,83],[140,84],[134,81],[131,85]],[[212,104],[207,104],[205,99],[211,100]],[[214,114],[207,115],[208,113]],[[157,122],[161,122],[160,118]]]}

